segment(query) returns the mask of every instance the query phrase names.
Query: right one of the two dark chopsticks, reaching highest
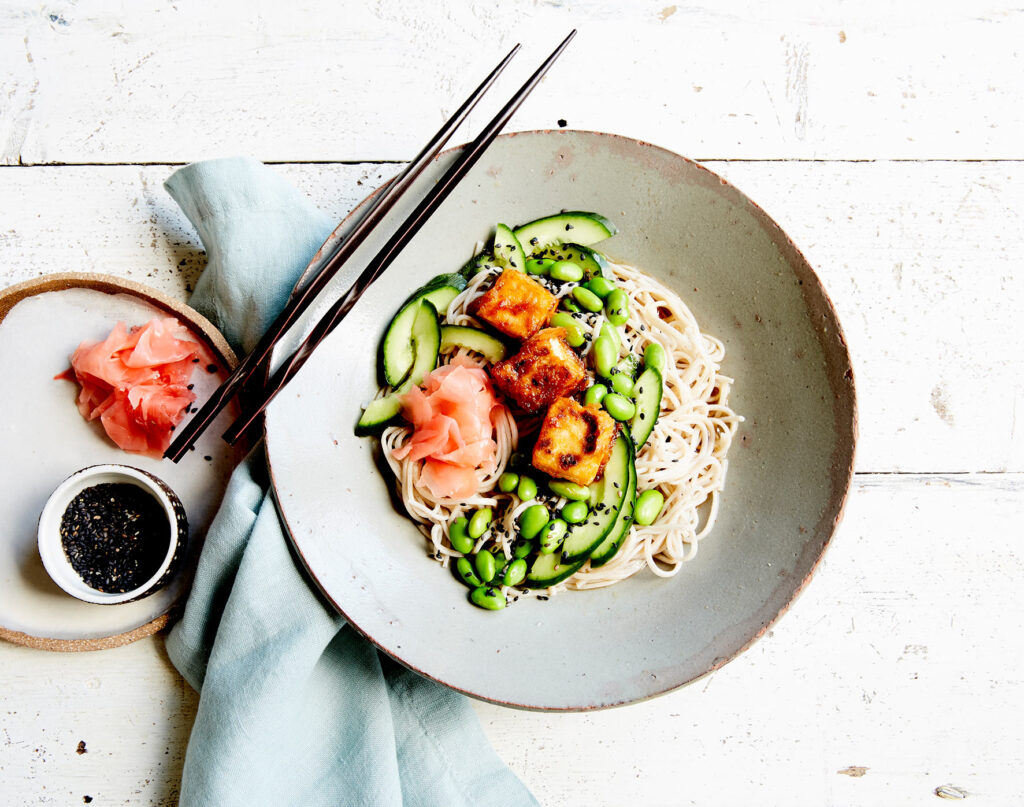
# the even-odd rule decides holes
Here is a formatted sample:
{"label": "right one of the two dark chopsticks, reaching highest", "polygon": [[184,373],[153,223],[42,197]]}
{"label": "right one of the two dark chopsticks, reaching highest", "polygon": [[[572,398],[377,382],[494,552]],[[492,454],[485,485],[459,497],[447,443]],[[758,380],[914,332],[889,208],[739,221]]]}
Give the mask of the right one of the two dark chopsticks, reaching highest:
{"label": "right one of the two dark chopsticks, reaching highest", "polygon": [[306,363],[306,359],[319,346],[321,342],[341,323],[362,293],[391,264],[402,249],[413,240],[430,215],[447,198],[449,194],[452,193],[455,186],[476,164],[477,160],[483,156],[484,151],[490,145],[495,137],[498,136],[498,133],[508,123],[516,110],[519,109],[526,99],[526,96],[541,82],[541,79],[544,78],[544,75],[555,62],[555,59],[561,55],[569,42],[572,41],[575,33],[574,29],[569,32],[569,35],[562,40],[561,44],[537,69],[537,72],[529,77],[526,83],[519,88],[518,92],[502,108],[501,112],[477,135],[476,139],[463,150],[456,162],[452,164],[444,175],[430,188],[416,210],[409,215],[381,251],[367,264],[367,267],[356,279],[355,283],[328,309],[327,313],[313,326],[309,335],[298,346],[291,357],[274,373],[273,378],[270,379],[259,399],[249,406],[243,415],[231,424],[231,427],[224,432],[225,440],[233,444],[252,426],[260,413],[266,409],[276,394],[295,377],[295,374],[299,372],[301,367]]}

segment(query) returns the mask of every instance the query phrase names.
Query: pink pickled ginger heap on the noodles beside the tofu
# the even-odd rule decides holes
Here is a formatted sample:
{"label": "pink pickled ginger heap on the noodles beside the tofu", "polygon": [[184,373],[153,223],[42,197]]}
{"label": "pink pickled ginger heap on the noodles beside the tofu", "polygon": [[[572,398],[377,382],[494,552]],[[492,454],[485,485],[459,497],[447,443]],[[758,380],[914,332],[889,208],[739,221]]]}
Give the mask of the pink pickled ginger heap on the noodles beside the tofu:
{"label": "pink pickled ginger heap on the noodles beside the tofu", "polygon": [[495,397],[483,368],[456,358],[413,387],[401,414],[413,436],[392,452],[396,460],[423,460],[420,482],[437,499],[465,499],[477,493],[477,471],[494,470],[498,443]]}

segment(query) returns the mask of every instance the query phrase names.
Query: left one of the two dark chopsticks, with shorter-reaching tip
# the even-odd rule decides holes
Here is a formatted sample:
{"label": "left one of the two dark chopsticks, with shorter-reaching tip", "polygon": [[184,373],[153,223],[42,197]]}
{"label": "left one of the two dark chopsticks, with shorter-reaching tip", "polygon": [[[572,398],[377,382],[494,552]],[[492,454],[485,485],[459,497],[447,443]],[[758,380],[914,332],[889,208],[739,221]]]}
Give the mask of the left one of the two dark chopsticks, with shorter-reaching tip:
{"label": "left one of the two dark chopsticks, with shorter-reaching tip", "polygon": [[[362,216],[348,233],[339,241],[334,251],[324,261],[323,268],[296,289],[284,310],[282,310],[270,327],[267,328],[259,342],[256,343],[256,346],[249,351],[224,382],[214,390],[213,394],[196,412],[191,420],[178,431],[174,440],[167,447],[167,451],[164,452],[164,457],[173,462],[178,462],[196,442],[199,435],[207,429],[214,418],[227,406],[234,394],[246,383],[255,378],[256,374],[266,366],[273,347],[281,337],[312,304],[312,301],[324,290],[328,282],[338,273],[338,270],[344,265],[345,261],[366,241],[367,236],[370,235],[373,228],[394,207],[395,202],[398,201],[413,181],[423,172],[423,169],[437,157],[455,130],[466,119],[466,116],[472,112],[484,93],[490,89],[492,85],[497,81],[498,77],[512,60],[512,57],[518,52],[520,47],[517,44],[508,52],[508,55],[499,62],[498,67],[490,72],[480,86],[463,101],[462,107],[437,130],[437,133],[423,147],[423,151],[370,203]],[[318,262],[318,258],[314,257],[310,262],[310,266],[316,262]]]}

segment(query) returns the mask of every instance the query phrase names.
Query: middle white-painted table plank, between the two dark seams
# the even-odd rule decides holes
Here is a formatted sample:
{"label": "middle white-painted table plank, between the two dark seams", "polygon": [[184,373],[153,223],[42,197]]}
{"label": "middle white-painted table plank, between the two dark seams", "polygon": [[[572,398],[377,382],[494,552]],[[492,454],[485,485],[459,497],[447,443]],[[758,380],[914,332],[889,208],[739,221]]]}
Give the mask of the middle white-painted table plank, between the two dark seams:
{"label": "middle white-painted table plank, between the two dark seams", "polygon": [[[1024,163],[712,162],[800,246],[851,345],[862,471],[1024,470]],[[276,169],[340,218],[397,169]],[[190,290],[168,166],[0,169],[0,283],[108,271]],[[751,328],[758,323],[748,324]]]}

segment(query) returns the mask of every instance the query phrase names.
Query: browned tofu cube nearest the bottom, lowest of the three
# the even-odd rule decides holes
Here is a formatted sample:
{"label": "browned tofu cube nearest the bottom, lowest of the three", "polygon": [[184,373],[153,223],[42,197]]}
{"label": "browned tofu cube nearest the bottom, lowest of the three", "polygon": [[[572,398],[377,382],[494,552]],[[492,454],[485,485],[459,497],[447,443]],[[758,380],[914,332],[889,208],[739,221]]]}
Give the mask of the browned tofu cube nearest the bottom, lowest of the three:
{"label": "browned tofu cube nearest the bottom, lowest of the three", "polygon": [[618,424],[596,405],[558,398],[544,418],[534,447],[534,467],[549,476],[590,484],[611,456]]}

